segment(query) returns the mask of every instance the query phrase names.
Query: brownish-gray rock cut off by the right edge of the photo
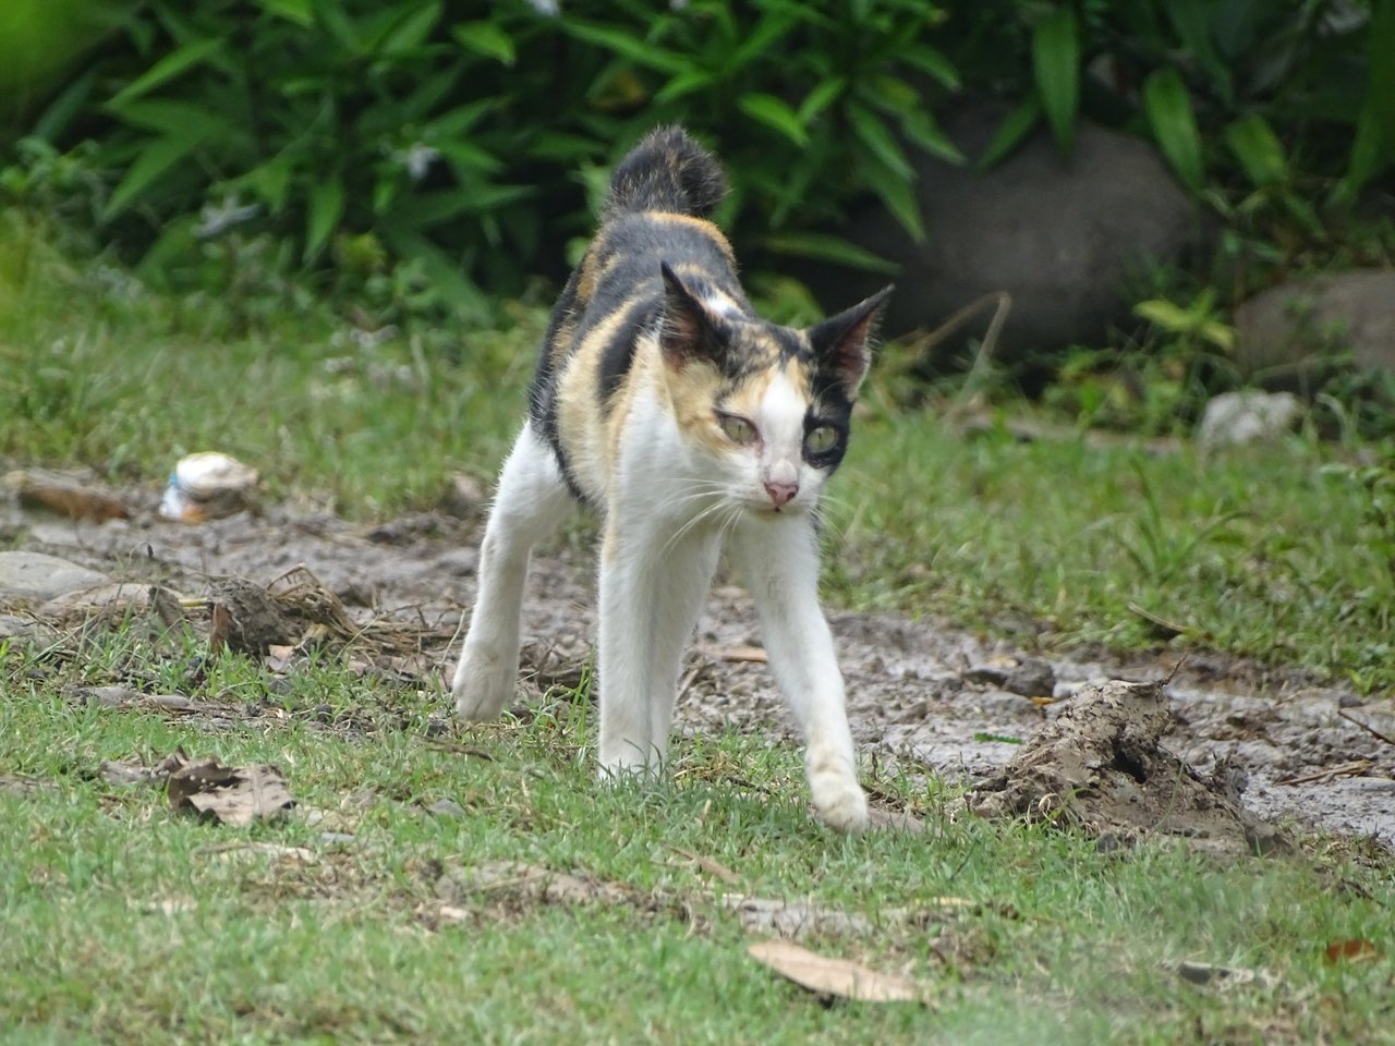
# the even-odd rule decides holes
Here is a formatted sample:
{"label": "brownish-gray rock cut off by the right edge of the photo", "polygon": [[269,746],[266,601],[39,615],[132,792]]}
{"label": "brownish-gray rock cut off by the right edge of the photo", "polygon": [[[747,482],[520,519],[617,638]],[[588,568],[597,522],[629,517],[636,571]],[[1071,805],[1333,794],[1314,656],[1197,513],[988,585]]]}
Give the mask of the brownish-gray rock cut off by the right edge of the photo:
{"label": "brownish-gray rock cut off by the right edge of the photo", "polygon": [[1395,371],[1395,271],[1357,269],[1269,287],[1235,311],[1236,360],[1264,385],[1296,385],[1350,354]]}

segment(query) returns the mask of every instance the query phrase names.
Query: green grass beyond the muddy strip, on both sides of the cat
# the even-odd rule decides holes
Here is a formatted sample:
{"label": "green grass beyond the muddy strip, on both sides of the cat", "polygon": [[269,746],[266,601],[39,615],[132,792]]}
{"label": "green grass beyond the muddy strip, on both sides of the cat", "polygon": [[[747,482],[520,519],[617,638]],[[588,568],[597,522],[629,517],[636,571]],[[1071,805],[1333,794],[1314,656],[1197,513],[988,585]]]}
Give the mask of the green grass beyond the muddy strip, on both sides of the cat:
{"label": "green grass beyond the muddy strip, on both sides of the cat", "polygon": [[[538,308],[512,308],[499,329],[374,343],[289,293],[254,311],[140,291],[10,223],[0,460],[153,487],[183,453],[220,449],[261,470],[272,502],[375,517],[431,506],[453,471],[488,483],[520,423]],[[1395,688],[1395,533],[1388,513],[1373,520],[1370,490],[1332,469],[1356,452],[1388,463],[1388,449],[965,438],[896,407],[875,371],[866,400],[833,483],[833,602],[1116,650],[1161,644],[1143,609],[1177,625],[1180,649]]]}

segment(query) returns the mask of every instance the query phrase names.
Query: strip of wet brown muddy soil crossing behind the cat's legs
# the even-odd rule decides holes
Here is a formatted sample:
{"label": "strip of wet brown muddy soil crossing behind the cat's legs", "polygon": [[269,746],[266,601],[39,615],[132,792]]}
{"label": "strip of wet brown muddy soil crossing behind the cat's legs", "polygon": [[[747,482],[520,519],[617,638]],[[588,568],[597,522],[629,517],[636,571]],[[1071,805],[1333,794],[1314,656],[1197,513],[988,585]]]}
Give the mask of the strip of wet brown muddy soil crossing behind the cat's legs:
{"label": "strip of wet brown muddy soil crossing behind the cat's legs", "polygon": [[[10,508],[8,516],[0,510],[0,537],[184,596],[206,596],[229,576],[266,584],[304,563],[353,618],[417,629],[438,668],[449,668],[451,636],[474,594],[477,520],[437,513],[359,527],[332,515],[273,509],[190,526],[144,510],[96,523]],[[861,749],[883,764],[975,784],[988,782],[1023,741],[1069,710],[1087,683],[1162,679],[1179,657],[1042,658],[929,616],[834,611],[830,621]],[[538,678],[573,671],[594,629],[589,552],[554,547],[536,556],[525,660],[541,668]],[[718,577],[688,654],[679,734],[797,738],[759,646],[749,601]],[[1170,715],[1162,749],[1198,780],[1223,781],[1221,791],[1237,794],[1247,816],[1370,837],[1395,849],[1395,707],[1388,699],[1363,702],[1299,671],[1205,653],[1191,654],[1165,693]],[[1169,830],[1189,834],[1186,824]]]}

